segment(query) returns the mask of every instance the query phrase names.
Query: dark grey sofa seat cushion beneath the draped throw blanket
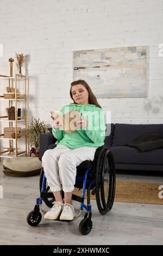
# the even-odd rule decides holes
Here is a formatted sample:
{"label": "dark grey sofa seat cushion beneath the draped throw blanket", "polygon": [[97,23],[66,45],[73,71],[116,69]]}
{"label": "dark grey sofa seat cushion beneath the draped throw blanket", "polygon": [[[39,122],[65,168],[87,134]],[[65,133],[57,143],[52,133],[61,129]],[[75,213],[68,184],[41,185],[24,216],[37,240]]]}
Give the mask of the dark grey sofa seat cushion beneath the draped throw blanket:
{"label": "dark grey sofa seat cushion beneath the draped throw blanket", "polygon": [[115,163],[163,164],[163,149],[141,153],[135,148],[118,146],[111,147],[109,150],[114,156]]}

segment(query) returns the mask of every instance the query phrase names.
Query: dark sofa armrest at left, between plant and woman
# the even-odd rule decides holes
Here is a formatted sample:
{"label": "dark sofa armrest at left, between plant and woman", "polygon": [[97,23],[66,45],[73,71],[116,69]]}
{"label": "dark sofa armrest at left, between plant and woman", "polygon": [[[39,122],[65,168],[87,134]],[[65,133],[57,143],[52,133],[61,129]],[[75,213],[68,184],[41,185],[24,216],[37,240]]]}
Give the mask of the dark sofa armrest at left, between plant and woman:
{"label": "dark sofa armrest at left, between plant and woman", "polygon": [[42,159],[42,156],[44,152],[48,149],[48,146],[50,144],[54,144],[57,141],[56,138],[54,138],[53,133],[47,132],[47,133],[41,133],[40,134],[40,149],[39,149],[39,159]]}

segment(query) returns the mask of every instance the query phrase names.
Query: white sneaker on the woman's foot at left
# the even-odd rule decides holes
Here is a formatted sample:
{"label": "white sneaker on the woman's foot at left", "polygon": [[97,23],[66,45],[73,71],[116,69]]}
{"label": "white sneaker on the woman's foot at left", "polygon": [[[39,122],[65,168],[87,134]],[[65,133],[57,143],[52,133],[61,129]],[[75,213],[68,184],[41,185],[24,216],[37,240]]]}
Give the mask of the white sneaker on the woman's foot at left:
{"label": "white sneaker on the woman's foot at left", "polygon": [[48,220],[57,220],[58,216],[62,211],[63,205],[64,204],[61,202],[54,202],[52,209],[46,212],[44,218],[47,218]]}

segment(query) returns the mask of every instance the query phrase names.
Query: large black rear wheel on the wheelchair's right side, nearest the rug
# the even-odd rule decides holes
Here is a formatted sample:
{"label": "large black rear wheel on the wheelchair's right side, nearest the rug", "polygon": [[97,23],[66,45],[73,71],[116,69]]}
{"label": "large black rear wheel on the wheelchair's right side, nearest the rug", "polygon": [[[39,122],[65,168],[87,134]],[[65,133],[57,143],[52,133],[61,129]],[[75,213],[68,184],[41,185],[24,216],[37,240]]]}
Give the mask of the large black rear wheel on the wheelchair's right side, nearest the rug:
{"label": "large black rear wheel on the wheelchair's right side, nearest the rug", "polygon": [[110,211],[115,197],[115,164],[112,153],[104,149],[96,167],[96,202],[100,214]]}

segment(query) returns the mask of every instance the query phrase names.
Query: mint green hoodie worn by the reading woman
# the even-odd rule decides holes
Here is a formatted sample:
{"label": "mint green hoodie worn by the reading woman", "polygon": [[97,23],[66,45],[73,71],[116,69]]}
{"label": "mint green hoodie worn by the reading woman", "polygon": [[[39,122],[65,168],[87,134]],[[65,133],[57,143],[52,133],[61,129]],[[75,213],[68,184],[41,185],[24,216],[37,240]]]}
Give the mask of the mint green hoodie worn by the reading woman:
{"label": "mint green hoodie worn by the reading woman", "polygon": [[[106,118],[104,111],[96,105],[80,105],[71,103],[62,107],[61,113],[77,109],[81,114],[83,113],[85,119],[89,122],[86,129],[80,129],[68,133],[61,129],[52,129],[53,136],[58,139],[55,144],[65,145],[68,148],[76,149],[80,147],[101,147],[104,145]],[[82,119],[82,118],[81,118]]]}

